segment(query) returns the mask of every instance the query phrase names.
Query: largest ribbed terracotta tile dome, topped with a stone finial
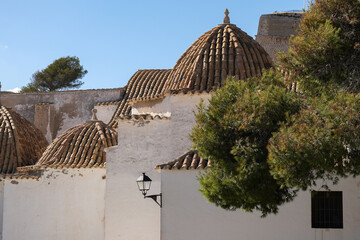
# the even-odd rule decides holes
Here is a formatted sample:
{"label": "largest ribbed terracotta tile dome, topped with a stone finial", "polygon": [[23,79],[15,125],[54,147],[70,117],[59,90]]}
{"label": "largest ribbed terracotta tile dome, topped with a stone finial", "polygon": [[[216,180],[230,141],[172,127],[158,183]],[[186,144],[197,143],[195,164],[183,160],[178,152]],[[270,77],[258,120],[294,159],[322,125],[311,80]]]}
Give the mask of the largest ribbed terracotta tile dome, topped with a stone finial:
{"label": "largest ribbed terracotta tile dome, topped with a stone finial", "polygon": [[210,91],[223,86],[227,76],[246,79],[272,66],[270,56],[260,44],[230,24],[227,10],[225,14],[224,24],[203,34],[180,57],[164,91],[181,88]]}

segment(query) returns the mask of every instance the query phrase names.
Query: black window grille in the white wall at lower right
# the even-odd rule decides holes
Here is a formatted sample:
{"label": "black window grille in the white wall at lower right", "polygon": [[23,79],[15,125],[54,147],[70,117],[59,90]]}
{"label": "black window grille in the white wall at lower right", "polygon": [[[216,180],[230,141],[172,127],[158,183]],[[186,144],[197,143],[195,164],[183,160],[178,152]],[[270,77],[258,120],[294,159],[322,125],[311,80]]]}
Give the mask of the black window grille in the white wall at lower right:
{"label": "black window grille in the white wall at lower right", "polygon": [[342,192],[312,192],[311,226],[343,228]]}

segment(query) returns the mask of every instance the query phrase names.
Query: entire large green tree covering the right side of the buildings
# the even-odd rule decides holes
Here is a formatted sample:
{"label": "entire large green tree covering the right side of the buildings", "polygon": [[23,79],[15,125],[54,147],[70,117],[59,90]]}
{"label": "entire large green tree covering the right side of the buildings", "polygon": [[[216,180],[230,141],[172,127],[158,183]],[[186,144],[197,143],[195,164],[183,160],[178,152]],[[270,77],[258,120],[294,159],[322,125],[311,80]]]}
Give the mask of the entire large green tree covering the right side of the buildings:
{"label": "entire large green tree covering the right side of the buildings", "polygon": [[266,216],[299,190],[360,174],[359,42],[360,1],[316,0],[275,70],[198,107],[191,138],[213,162],[199,178],[210,202]]}

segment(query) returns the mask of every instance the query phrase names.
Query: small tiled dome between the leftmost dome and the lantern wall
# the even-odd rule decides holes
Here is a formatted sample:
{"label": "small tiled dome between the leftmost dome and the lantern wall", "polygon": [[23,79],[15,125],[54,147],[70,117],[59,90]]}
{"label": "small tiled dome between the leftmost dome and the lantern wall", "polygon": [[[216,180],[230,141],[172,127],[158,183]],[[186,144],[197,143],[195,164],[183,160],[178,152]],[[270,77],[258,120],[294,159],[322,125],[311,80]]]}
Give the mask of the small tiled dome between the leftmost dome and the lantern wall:
{"label": "small tiled dome between the leftmost dome and the lantern wall", "polygon": [[105,167],[104,149],[117,145],[117,133],[102,121],[93,119],[74,126],[51,143],[35,167]]}

